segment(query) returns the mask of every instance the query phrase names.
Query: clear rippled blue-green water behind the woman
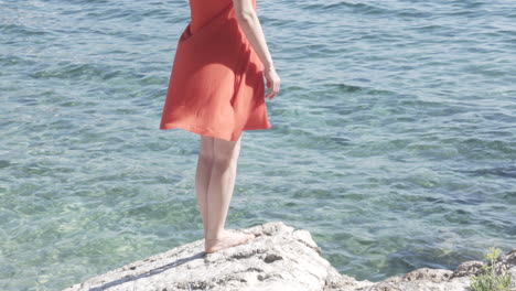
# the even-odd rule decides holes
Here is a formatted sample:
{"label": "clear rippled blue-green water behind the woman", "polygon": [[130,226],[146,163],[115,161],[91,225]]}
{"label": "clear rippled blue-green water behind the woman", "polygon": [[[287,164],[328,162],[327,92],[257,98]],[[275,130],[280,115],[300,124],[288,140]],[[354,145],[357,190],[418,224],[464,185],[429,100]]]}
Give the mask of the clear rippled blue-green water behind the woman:
{"label": "clear rippled blue-green water behind the woman", "polygon": [[[258,1],[281,93],[226,226],[311,231],[379,281],[516,246],[512,1]],[[198,136],[158,129],[186,1],[0,1],[0,289],[202,238]]]}

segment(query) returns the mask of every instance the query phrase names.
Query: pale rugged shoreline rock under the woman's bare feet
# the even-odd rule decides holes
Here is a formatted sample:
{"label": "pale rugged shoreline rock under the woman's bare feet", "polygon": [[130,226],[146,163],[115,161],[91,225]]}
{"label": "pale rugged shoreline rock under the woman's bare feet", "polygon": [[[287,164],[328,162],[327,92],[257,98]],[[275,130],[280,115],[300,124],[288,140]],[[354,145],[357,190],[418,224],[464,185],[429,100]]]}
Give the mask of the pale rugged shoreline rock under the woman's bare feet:
{"label": "pale rugged shoreline rock under the woman's bare feet", "polygon": [[[204,252],[204,239],[200,239],[64,291],[463,291],[467,290],[470,277],[480,273],[484,265],[466,261],[454,271],[420,268],[380,282],[357,281],[341,274],[321,257],[321,248],[304,229],[276,222],[243,230],[257,237],[213,254]],[[501,256],[495,265],[498,270],[509,271],[516,282],[516,249]]]}

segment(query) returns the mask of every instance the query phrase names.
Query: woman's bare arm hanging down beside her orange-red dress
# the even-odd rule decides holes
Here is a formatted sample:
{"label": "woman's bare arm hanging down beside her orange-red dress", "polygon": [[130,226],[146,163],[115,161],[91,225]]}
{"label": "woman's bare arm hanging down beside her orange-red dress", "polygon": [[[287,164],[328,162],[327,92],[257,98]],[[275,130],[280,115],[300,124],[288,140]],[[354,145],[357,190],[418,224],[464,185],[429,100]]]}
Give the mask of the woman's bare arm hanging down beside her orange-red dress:
{"label": "woman's bare arm hanging down beside her orange-red dress", "polygon": [[272,57],[270,56],[269,47],[267,46],[252,2],[251,0],[233,0],[233,3],[238,24],[265,66],[264,73],[267,79],[267,88],[269,88],[269,93],[265,97],[272,99],[279,93],[281,80],[278,73],[276,73]]}

